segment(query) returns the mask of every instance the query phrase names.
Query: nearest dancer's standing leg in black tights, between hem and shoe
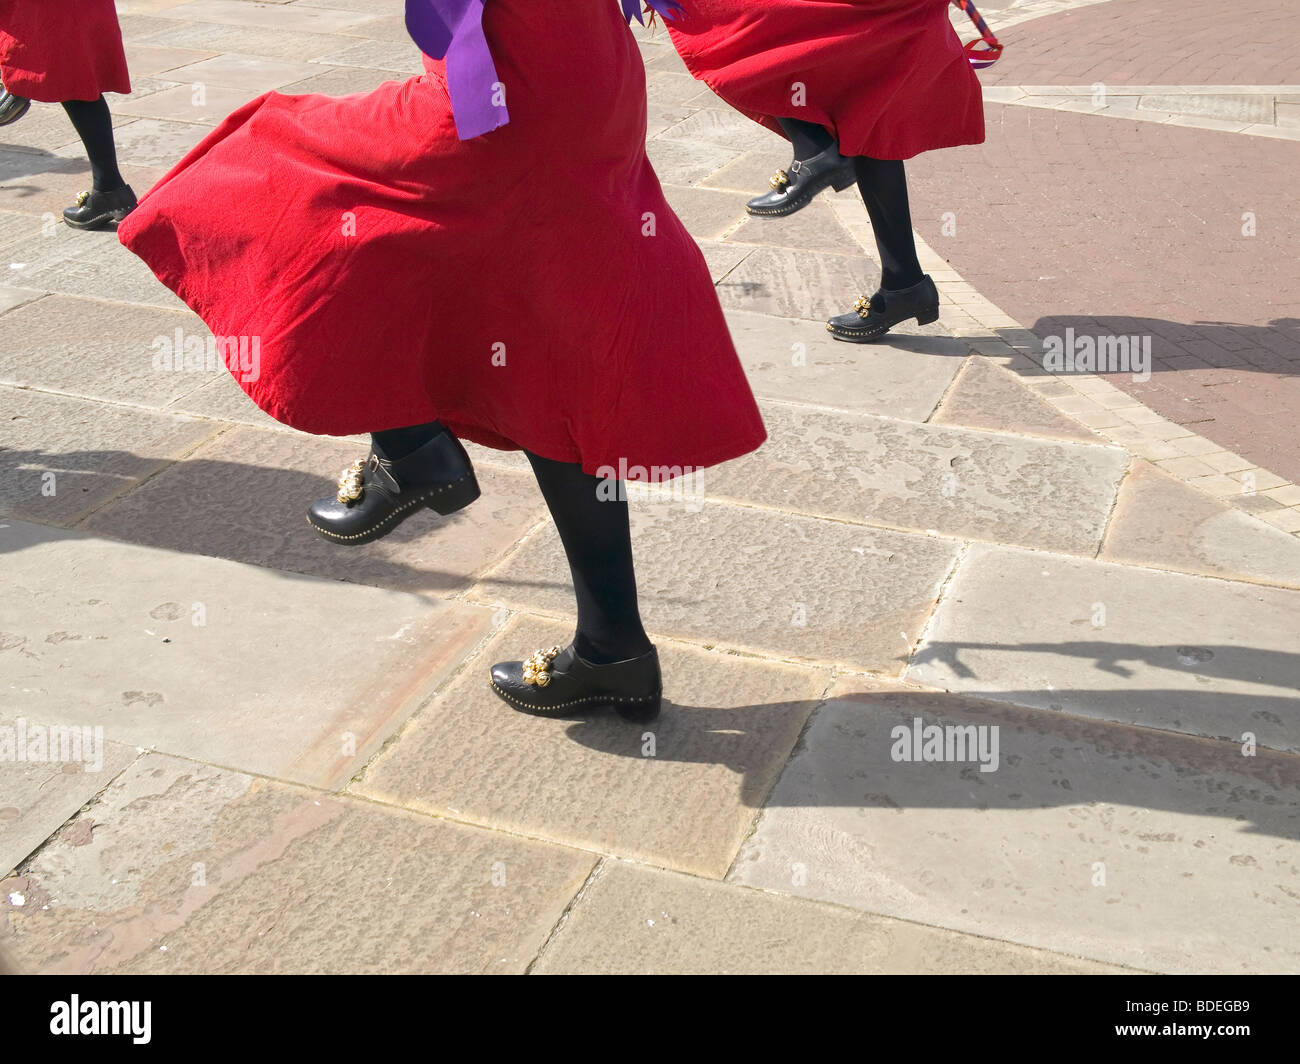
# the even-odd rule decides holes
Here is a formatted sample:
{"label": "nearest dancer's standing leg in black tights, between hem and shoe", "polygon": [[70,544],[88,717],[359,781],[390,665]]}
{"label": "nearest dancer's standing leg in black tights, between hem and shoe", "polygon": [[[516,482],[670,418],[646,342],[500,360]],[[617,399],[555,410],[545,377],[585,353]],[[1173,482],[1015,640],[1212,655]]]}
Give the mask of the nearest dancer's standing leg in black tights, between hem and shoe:
{"label": "nearest dancer's standing leg in black tights, between hem and shoe", "polygon": [[525,454],[573,574],[578,656],[610,665],[649,653],[651,643],[637,609],[627,501],[604,498],[601,479],[577,463]]}

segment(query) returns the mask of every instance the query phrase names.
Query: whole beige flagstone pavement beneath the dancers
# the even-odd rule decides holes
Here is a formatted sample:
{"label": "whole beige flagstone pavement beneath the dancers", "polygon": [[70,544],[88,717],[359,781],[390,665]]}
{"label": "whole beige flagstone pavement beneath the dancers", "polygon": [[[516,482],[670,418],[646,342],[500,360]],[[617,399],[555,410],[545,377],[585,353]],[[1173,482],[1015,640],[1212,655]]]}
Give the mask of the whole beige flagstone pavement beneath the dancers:
{"label": "whole beige flagstone pavement beneath the dancers", "polygon": [[[1106,5],[988,5],[1009,46],[1071,7]],[[396,0],[118,9],[138,190],[259,92],[420,69]],[[88,177],[58,108],[0,131],[0,950],[65,973],[1300,970],[1300,524],[1277,516],[1300,492],[1045,372],[937,237],[940,321],[833,342],[875,286],[861,200],[748,217],[783,142],[637,38],[651,161],[770,431],[698,494],[633,502],[653,725],[493,697],[490,663],[572,631],[517,455],[474,449],[484,496],[451,518],[313,539],[303,503],[358,441],[155,369],[202,323],[113,234],[57,224]],[[987,238],[1032,258],[1017,203]],[[104,743],[55,757],[49,726]]]}

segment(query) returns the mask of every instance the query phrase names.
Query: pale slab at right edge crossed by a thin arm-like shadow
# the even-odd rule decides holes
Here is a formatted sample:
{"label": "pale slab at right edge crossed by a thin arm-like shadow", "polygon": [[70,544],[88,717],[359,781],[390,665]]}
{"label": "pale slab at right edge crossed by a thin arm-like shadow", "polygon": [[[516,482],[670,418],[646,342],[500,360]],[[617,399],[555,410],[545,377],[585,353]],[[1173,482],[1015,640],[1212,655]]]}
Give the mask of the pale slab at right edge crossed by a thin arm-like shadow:
{"label": "pale slab at right edge crossed by a thin arm-like shadow", "polygon": [[1297,752],[1297,631],[1292,591],[976,544],[907,678]]}

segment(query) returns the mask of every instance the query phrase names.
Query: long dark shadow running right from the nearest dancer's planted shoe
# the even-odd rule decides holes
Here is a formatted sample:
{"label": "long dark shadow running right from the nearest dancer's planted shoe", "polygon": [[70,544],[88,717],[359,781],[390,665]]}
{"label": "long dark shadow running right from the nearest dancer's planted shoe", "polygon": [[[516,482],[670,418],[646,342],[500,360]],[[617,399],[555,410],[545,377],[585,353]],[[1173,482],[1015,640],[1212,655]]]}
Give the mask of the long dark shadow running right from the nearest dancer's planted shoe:
{"label": "long dark shadow running right from the nearest dancer's planted shoe", "polygon": [[[997,692],[1015,698],[1022,692]],[[1071,692],[1087,697],[1089,692]],[[1109,692],[1108,692],[1109,693]],[[1132,692],[1170,696],[1180,692]],[[1279,700],[1260,698],[1260,705]],[[1294,705],[1294,704],[1292,704]],[[775,718],[812,712],[780,783],[754,762]],[[894,761],[900,735],[924,725],[997,726],[998,764],[975,758]],[[658,721],[616,717],[575,722],[568,736],[612,757],[725,765],[741,779],[745,805],[848,809],[1032,810],[1091,803],[1247,821],[1252,832],[1300,838],[1300,758],[1236,743],[1024,709],[987,697],[930,691],[862,691],[823,702],[727,709],[664,702]]]}

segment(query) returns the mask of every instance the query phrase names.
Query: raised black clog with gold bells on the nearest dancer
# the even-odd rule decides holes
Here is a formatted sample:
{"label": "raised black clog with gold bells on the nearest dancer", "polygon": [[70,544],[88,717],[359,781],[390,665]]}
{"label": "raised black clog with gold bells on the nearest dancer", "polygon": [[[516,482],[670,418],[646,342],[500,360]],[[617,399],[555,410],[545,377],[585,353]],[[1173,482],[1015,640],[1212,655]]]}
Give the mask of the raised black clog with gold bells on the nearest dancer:
{"label": "raised black clog with gold bells on the nearest dancer", "polygon": [[358,545],[386,536],[417,510],[451,514],[478,498],[469,455],[450,432],[396,462],[374,451],[338,481],[338,494],[318,498],[307,522],[329,540]]}

